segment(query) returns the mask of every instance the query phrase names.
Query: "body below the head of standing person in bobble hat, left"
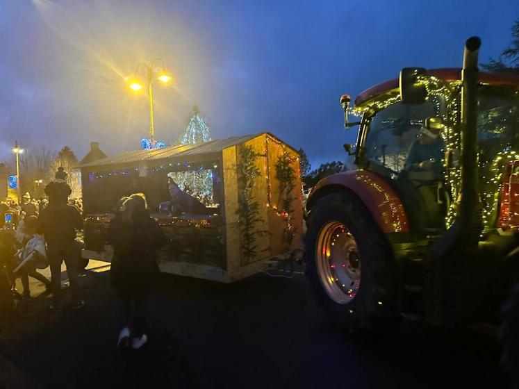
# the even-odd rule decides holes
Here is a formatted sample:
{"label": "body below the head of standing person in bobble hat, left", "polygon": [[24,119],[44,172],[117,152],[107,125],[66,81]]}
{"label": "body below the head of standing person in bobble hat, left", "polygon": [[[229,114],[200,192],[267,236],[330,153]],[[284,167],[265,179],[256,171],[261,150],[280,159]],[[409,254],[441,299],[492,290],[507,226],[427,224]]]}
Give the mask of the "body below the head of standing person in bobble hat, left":
{"label": "body below the head of standing person in bobble hat, left", "polygon": [[78,283],[80,252],[76,245],[76,229],[82,228],[83,219],[80,213],[74,206],[69,206],[66,199],[63,203],[54,197],[54,202],[49,201],[49,205],[40,215],[40,231],[47,242],[47,259],[51,267],[53,301],[49,306],[49,311],[62,311],[64,307],[61,291],[61,263],[63,260],[65,260],[70,281],[72,308],[82,308],[85,305]]}

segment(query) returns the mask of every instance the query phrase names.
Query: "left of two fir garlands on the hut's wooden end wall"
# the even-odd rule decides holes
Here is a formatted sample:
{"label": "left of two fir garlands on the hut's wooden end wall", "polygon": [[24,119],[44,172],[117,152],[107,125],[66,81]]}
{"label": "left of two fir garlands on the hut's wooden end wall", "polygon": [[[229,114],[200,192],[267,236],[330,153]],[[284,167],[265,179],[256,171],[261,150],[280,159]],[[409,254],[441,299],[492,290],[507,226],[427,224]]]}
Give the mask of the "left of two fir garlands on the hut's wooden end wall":
{"label": "left of two fir garlands on the hut's wooden end wall", "polygon": [[254,198],[256,177],[261,176],[260,169],[256,166],[257,154],[252,146],[241,144],[238,149],[238,228],[241,237],[242,258],[250,262],[256,258],[258,236],[265,235],[267,231],[258,230],[258,224],[263,220],[259,217],[259,203]]}

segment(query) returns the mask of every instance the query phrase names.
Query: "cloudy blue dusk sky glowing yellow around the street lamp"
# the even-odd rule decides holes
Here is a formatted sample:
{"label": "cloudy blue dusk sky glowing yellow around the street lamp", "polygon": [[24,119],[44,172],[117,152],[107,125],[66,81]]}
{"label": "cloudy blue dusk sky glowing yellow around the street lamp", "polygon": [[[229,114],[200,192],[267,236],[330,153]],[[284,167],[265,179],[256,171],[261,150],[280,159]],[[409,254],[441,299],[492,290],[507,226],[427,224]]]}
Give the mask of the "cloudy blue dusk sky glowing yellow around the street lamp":
{"label": "cloudy blue dusk sky glowing yellow around the street lamp", "polygon": [[481,62],[511,41],[519,1],[1,0],[0,160],[90,142],[138,149],[147,97],[127,88],[136,65],[163,58],[174,83],[155,89],[156,138],[186,129],[195,102],[213,138],[270,131],[313,167],[344,160],[340,94],[352,97],[402,67],[459,67],[463,43]]}

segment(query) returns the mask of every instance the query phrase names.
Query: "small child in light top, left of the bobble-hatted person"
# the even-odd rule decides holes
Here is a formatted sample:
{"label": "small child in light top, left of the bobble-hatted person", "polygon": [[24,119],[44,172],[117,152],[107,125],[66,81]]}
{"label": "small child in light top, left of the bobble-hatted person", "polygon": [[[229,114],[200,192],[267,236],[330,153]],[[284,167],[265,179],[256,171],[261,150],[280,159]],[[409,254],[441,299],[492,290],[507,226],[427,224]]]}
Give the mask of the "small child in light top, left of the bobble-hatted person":
{"label": "small child in light top, left of the bobble-hatted person", "polygon": [[36,271],[37,267],[47,267],[47,254],[45,252],[45,242],[42,235],[38,235],[38,217],[35,215],[27,216],[24,220],[25,238],[22,242],[22,249],[18,251],[19,262],[28,261],[17,271],[15,276],[19,276],[24,288],[23,297],[31,297],[29,290],[28,276],[37,279],[45,285],[45,289],[49,290],[51,281],[43,274]]}

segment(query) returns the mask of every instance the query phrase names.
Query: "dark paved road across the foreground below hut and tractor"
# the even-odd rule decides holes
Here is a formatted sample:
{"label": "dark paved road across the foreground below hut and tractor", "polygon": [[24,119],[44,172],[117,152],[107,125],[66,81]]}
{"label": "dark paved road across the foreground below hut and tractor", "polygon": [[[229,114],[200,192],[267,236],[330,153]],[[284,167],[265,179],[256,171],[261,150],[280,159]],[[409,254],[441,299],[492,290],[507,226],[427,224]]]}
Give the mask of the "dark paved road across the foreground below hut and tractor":
{"label": "dark paved road across the foreground below hut and tractor", "polygon": [[49,313],[40,297],[38,313],[6,326],[0,388],[507,387],[493,336],[424,326],[373,338],[337,333],[302,276],[230,285],[164,276],[149,345],[121,355],[117,299],[103,270],[83,279],[82,310]]}

